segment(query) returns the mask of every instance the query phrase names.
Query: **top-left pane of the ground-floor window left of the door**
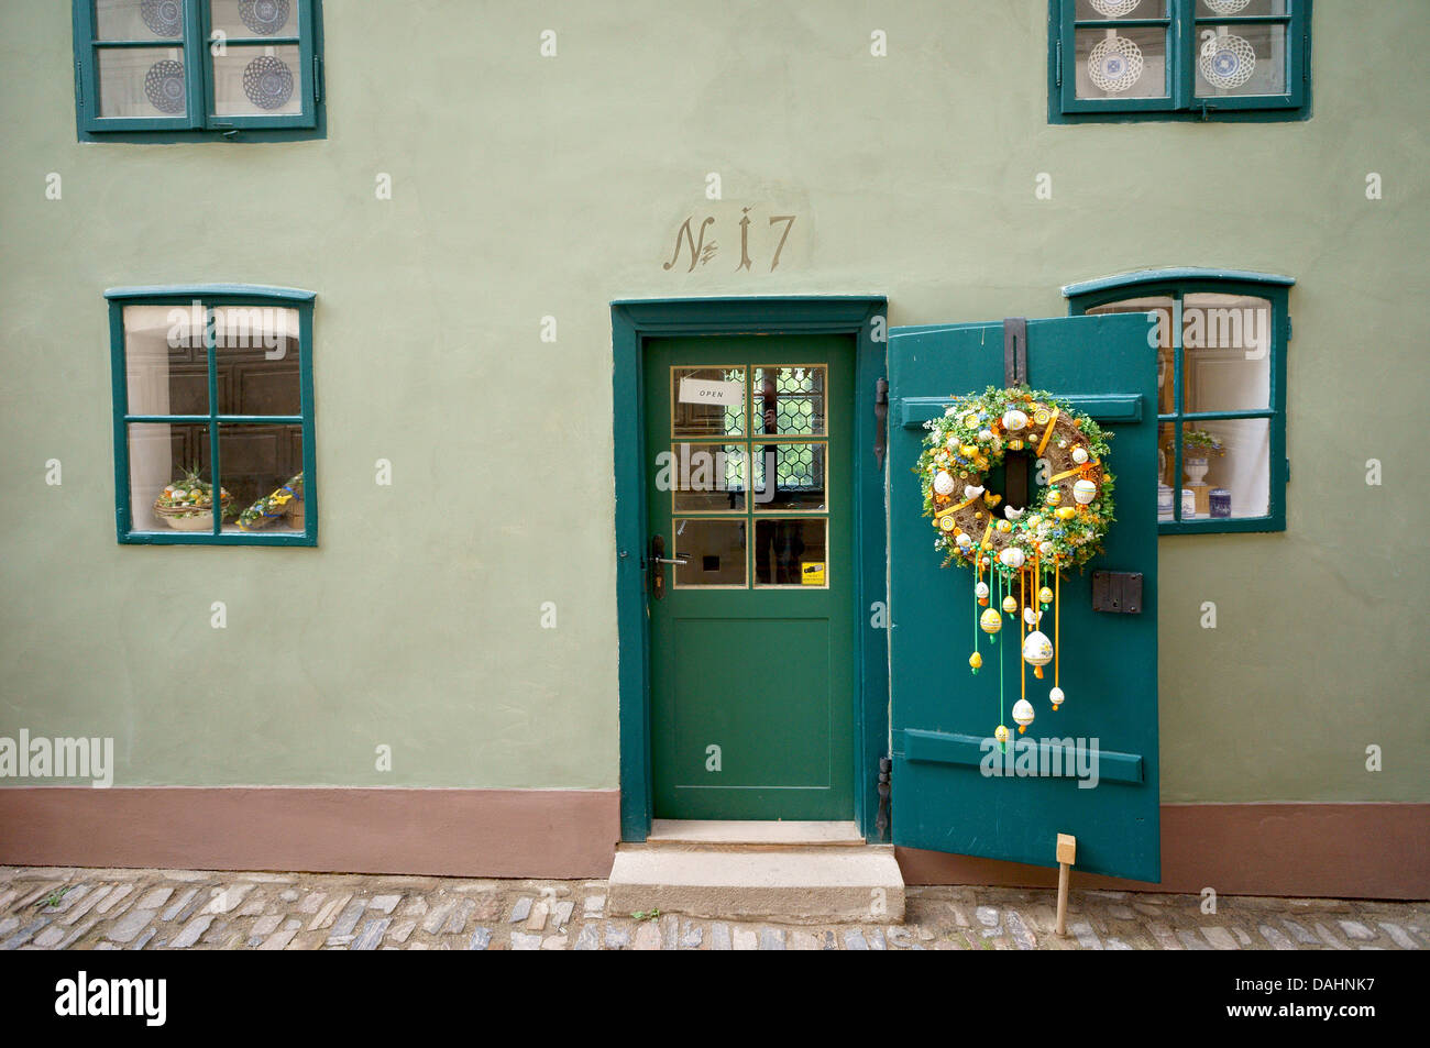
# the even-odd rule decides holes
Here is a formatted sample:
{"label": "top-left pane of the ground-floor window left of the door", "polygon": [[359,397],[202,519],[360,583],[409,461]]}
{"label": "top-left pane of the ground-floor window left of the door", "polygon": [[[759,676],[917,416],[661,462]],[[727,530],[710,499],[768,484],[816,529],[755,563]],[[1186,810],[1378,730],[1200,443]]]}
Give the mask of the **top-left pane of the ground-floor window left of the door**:
{"label": "top-left pane of the ground-floor window left of the door", "polygon": [[203,312],[124,306],[124,385],[130,415],[207,415]]}

